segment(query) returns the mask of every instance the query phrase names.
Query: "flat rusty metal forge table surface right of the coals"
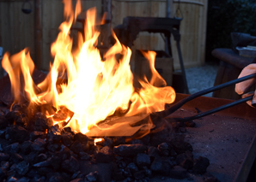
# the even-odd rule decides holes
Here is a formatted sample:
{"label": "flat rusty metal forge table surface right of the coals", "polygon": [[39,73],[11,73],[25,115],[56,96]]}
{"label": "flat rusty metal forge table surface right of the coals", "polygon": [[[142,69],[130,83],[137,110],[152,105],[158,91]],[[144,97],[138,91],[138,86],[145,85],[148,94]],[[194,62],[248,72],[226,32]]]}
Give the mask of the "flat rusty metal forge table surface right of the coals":
{"label": "flat rusty metal forge table surface right of the coals", "polygon": [[[187,95],[177,94],[177,101]],[[213,109],[232,100],[198,97],[168,117],[185,117],[197,114],[197,110]],[[194,120],[196,127],[185,133],[192,144],[194,159],[205,156],[210,160],[207,173],[220,181],[246,181],[255,159],[254,135],[256,131],[256,109],[246,103],[222,110],[216,114]],[[191,176],[201,181],[197,176]],[[158,181],[154,179],[152,181]],[[168,179],[165,181],[191,181],[191,179]]]}

